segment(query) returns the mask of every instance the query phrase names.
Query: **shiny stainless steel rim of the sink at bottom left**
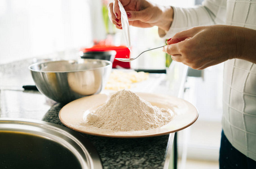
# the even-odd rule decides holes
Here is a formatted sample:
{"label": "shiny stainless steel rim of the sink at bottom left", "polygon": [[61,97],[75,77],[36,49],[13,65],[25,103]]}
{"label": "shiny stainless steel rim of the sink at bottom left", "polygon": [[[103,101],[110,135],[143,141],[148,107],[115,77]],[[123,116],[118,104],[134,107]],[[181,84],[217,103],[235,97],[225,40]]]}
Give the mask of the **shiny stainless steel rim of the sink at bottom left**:
{"label": "shiny stainless steel rim of the sink at bottom left", "polygon": [[82,168],[102,168],[94,145],[81,134],[58,124],[21,118],[0,118],[0,131],[16,131],[50,139],[68,148]]}

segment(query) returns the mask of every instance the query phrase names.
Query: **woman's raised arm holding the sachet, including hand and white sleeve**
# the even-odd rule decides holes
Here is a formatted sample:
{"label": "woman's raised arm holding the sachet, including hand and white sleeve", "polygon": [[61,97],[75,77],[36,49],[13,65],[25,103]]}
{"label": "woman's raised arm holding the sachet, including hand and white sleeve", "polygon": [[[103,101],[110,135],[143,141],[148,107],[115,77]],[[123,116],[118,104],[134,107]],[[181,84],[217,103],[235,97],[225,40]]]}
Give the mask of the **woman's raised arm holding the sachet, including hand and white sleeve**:
{"label": "woman's raised arm holding the sachet, including hand and white sleeve", "polygon": [[[226,17],[226,0],[205,0],[202,6],[192,8],[160,6],[145,0],[120,1],[130,25],[140,28],[158,26],[158,34],[165,39],[194,26],[223,24]],[[109,18],[116,28],[122,29],[117,0],[109,4]]]}

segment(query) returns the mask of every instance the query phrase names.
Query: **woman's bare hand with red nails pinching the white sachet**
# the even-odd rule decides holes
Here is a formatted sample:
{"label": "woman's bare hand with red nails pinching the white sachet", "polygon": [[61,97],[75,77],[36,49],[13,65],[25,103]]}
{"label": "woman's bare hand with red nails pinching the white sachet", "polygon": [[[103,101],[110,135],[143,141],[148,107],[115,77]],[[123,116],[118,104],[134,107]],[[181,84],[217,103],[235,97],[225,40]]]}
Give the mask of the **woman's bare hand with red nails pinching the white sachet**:
{"label": "woman's bare hand with red nails pinching the white sachet", "polygon": [[[158,26],[163,30],[169,30],[173,21],[173,8],[158,6],[145,0],[120,1],[125,8],[129,25],[140,28]],[[121,12],[117,0],[109,3],[108,11],[112,23],[116,25],[116,28],[122,29]]]}

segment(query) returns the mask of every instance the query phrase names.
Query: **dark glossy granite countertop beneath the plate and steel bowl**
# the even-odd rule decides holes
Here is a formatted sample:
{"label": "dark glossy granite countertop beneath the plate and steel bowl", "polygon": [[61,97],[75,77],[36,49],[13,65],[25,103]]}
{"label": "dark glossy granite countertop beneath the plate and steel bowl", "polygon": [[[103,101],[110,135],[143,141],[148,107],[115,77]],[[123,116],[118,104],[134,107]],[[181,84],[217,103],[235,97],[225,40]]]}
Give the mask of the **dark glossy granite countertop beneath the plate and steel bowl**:
{"label": "dark glossy granite countertop beneath the plate and steel bowl", "polygon": [[[28,70],[32,60],[0,65],[0,118],[37,119],[64,126],[59,111],[64,106],[38,91],[23,90],[24,84],[34,84]],[[161,82],[161,85],[166,84]],[[158,91],[156,91],[158,92]],[[176,94],[178,95],[178,94]],[[103,168],[166,168],[174,134],[119,139],[82,134],[99,153]]]}

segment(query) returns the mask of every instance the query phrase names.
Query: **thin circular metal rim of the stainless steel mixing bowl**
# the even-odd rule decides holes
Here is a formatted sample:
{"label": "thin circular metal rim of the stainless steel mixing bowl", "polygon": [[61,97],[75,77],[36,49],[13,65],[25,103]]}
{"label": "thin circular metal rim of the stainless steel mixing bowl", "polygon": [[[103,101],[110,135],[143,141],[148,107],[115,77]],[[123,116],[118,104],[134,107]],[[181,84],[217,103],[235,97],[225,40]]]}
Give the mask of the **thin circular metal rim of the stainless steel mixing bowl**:
{"label": "thin circular metal rim of the stainless steel mixing bowl", "polygon": [[[65,71],[48,71],[48,70],[35,70],[33,69],[33,66],[37,66],[40,64],[46,64],[46,63],[57,63],[57,62],[79,62],[79,60],[88,60],[88,61],[100,61],[101,63],[107,63],[108,65],[101,66],[100,68],[91,68],[91,69],[83,69],[83,70],[65,70]],[[101,59],[71,59],[71,60],[54,60],[54,61],[41,61],[38,63],[34,63],[28,66],[28,69],[32,72],[42,72],[42,73],[68,73],[68,72],[83,72],[86,70],[95,70],[95,69],[101,69],[101,68],[107,68],[110,66],[112,68],[112,62],[108,60],[101,60]]]}

